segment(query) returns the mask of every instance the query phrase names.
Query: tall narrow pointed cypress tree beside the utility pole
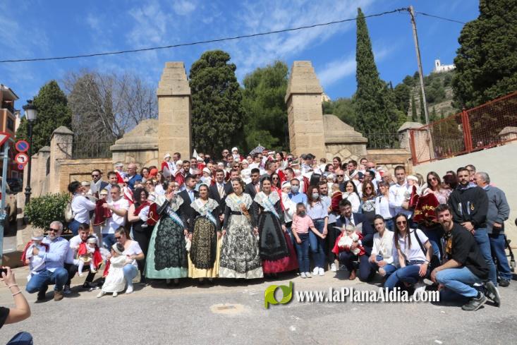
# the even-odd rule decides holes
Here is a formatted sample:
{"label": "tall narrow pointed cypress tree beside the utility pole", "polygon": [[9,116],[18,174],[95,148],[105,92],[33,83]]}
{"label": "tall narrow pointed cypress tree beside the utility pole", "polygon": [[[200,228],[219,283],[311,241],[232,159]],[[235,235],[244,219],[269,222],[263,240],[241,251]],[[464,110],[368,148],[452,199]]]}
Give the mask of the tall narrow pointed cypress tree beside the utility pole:
{"label": "tall narrow pointed cypress tree beside the utility pole", "polygon": [[358,84],[355,94],[355,129],[361,133],[396,133],[399,114],[387,84],[379,78],[365,16],[360,8],[357,18],[355,61]]}

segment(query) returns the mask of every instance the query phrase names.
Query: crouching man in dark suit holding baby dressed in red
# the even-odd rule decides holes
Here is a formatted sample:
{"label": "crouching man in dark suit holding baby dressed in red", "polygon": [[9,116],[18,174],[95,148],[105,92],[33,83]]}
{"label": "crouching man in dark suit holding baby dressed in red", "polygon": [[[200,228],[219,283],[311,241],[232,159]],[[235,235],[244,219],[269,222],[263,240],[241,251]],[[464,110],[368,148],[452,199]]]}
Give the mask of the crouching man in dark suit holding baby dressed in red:
{"label": "crouching man in dark suit holding baby dressed in red", "polygon": [[[363,243],[363,247],[365,248],[365,255],[353,255],[351,251],[342,251],[339,253],[339,263],[341,265],[345,265],[348,272],[350,272],[350,277],[348,279],[355,279],[355,267],[354,261],[359,261],[359,280],[361,282],[367,282],[372,279],[375,275],[375,272],[372,272],[370,262],[368,262],[368,258],[370,258],[370,253],[372,253],[373,247],[373,234],[374,230],[372,225],[367,222],[364,214],[353,213],[352,212],[352,204],[348,200],[341,200],[339,202],[339,217],[336,219],[336,226],[343,228],[348,224],[352,224],[355,226],[356,231],[360,231],[363,234],[363,239],[361,243]],[[355,248],[355,244],[351,246],[351,249]]]}

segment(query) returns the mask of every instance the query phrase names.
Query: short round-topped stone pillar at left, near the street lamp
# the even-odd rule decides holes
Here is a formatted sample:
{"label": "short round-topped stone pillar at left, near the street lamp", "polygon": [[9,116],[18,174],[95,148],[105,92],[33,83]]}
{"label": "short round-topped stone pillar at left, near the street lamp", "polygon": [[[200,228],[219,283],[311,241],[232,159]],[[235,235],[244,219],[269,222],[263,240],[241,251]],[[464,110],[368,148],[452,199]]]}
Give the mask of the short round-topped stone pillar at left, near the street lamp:
{"label": "short round-topped stone pillar at left, near the street lamp", "polygon": [[[50,170],[49,170],[49,191],[59,191],[59,162],[58,159],[72,158],[73,132],[61,126],[56,128],[50,136]],[[67,181],[68,182],[68,181]]]}

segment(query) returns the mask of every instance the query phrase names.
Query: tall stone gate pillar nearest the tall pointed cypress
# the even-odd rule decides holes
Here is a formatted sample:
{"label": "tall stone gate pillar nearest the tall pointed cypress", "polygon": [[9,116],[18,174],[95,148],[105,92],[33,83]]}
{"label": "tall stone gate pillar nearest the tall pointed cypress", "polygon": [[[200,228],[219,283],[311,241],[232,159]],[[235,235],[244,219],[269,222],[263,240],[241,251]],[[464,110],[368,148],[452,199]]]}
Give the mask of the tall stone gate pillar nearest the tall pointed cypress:
{"label": "tall stone gate pillar nearest the tall pointed cypress", "polygon": [[289,145],[294,155],[325,157],[322,93],[310,61],[294,61],[285,98]]}

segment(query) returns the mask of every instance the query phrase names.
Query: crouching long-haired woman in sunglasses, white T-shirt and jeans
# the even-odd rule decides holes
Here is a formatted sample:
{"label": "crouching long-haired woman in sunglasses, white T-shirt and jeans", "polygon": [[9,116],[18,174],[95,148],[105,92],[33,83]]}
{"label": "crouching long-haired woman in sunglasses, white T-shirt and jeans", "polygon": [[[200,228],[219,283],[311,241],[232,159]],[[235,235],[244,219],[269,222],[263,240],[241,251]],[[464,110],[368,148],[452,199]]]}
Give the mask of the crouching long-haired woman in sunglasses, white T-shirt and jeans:
{"label": "crouching long-haired woman in sunglasses, white T-shirt and jeans", "polygon": [[425,284],[422,279],[429,274],[432,255],[431,243],[427,236],[420,229],[410,229],[406,214],[399,213],[395,216],[393,241],[393,256],[396,255],[398,258],[400,268],[389,276],[384,287],[404,288],[403,283],[406,283],[414,285],[415,292],[424,291]]}

